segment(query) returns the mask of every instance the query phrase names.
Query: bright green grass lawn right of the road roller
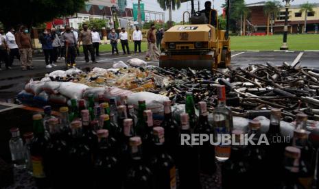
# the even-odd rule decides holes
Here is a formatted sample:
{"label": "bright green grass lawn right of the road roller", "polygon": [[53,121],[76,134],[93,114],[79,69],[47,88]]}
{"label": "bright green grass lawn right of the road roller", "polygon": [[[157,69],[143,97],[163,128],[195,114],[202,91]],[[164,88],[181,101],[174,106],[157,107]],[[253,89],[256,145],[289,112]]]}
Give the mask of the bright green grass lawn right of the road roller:
{"label": "bright green grass lawn right of the road roller", "polygon": [[[283,35],[274,36],[231,36],[231,50],[279,50]],[[294,34],[287,36],[287,44],[292,51],[319,50],[319,34]]]}

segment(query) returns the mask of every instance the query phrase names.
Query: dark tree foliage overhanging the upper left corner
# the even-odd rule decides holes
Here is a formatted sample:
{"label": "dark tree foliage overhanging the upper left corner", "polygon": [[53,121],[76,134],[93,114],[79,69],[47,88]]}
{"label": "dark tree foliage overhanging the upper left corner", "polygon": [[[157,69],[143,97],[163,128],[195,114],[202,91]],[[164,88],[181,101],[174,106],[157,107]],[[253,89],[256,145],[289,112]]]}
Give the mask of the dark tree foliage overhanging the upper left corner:
{"label": "dark tree foliage overhanging the upper left corner", "polygon": [[5,27],[23,24],[32,27],[53,18],[71,16],[84,8],[87,0],[1,1],[0,21]]}

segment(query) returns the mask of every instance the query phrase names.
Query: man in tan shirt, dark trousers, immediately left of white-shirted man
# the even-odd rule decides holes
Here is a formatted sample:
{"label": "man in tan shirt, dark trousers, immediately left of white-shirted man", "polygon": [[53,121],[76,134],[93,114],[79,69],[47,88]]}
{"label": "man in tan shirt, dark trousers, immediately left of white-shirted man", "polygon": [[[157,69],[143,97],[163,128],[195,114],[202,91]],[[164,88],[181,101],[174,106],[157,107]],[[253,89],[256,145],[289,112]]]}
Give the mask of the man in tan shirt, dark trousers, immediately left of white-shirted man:
{"label": "man in tan shirt, dark trousers, immediately left of white-shirted man", "polygon": [[83,52],[84,52],[84,56],[85,56],[85,62],[86,64],[88,63],[88,51],[90,51],[91,54],[91,60],[93,63],[97,63],[95,60],[95,53],[94,53],[94,49],[93,49],[93,44],[92,44],[92,34],[91,34],[91,30],[88,29],[88,25],[86,24],[82,24],[82,31],[80,31],[80,35],[79,35],[79,46],[80,43],[82,42],[82,46],[83,46]]}

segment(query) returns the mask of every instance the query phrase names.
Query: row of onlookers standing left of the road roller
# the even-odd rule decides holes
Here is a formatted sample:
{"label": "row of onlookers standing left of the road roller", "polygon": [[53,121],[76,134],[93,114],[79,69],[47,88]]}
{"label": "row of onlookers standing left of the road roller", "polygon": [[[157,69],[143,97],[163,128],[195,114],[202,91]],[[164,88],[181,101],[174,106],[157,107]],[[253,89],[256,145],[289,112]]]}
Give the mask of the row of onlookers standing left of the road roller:
{"label": "row of onlookers standing left of the road roller", "polygon": [[[164,29],[158,29],[154,33],[155,25],[151,25],[147,31],[147,53],[146,60],[158,60],[159,51],[161,48],[161,39],[163,38]],[[129,35],[125,28],[121,28],[121,32],[117,33],[115,29],[110,29],[108,34],[112,54],[119,55],[117,42],[121,42],[123,54],[130,54]],[[134,53],[141,53],[141,42],[143,40],[142,31],[139,27],[135,27],[132,33],[134,42]],[[88,29],[85,23],[82,25],[80,32],[75,31],[73,27],[66,25],[63,31],[57,31],[55,28],[45,29],[39,34],[39,42],[42,46],[45,55],[45,68],[57,66],[57,62],[64,60],[67,67],[76,66],[75,58],[80,55],[79,47],[82,45],[84,60],[86,63],[90,61],[97,63],[96,57],[99,56],[99,45],[102,44],[101,36],[97,28]],[[5,64],[5,68],[12,69],[14,58],[21,62],[21,70],[27,71],[34,69],[32,64],[32,55],[34,47],[32,39],[29,35],[29,30],[25,26],[19,27],[19,31],[15,31],[12,27],[5,34],[3,29],[0,29],[0,71],[1,62]]]}

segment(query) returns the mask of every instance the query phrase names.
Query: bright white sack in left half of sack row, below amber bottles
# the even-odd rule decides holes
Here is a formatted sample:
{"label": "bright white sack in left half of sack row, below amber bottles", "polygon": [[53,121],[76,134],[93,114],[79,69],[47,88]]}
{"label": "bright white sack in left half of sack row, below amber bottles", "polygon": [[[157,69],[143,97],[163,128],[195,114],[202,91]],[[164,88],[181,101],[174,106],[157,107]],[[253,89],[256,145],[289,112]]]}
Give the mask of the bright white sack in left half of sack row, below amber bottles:
{"label": "bright white sack in left half of sack row, below amber bottles", "polygon": [[68,97],[69,99],[82,99],[83,92],[88,86],[84,84],[76,84],[72,82],[65,82],[60,84],[59,92],[60,94]]}

